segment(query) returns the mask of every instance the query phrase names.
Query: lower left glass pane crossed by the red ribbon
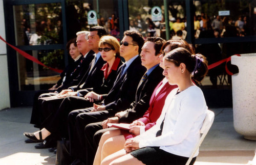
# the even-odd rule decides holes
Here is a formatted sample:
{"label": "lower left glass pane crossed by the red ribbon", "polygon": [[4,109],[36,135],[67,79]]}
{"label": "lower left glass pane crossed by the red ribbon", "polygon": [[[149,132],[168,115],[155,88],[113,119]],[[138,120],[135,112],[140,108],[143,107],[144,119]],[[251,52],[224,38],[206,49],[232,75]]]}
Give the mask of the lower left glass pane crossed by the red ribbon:
{"label": "lower left glass pane crossed by the red ribbon", "polygon": [[[26,51],[34,58],[52,68],[63,69],[64,51],[57,50],[32,50]],[[49,89],[60,78],[59,73],[34,63],[17,53],[19,90]]]}

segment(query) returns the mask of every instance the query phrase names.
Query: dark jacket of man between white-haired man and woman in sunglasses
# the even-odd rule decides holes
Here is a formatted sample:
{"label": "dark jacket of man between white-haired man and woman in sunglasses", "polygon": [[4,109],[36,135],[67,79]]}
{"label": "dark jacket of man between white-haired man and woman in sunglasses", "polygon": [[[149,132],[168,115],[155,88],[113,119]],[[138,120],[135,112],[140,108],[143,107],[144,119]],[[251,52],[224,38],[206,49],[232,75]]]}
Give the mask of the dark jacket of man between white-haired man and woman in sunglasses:
{"label": "dark jacket of man between white-haired man and woman in sunglasses", "polygon": [[72,86],[71,88],[74,91],[79,91],[87,88],[91,88],[91,90],[99,88],[103,83],[104,74],[101,68],[104,64],[105,64],[105,61],[100,56],[96,64],[94,65],[93,69],[90,72],[90,68],[92,65],[92,62],[91,62],[90,67],[87,70],[87,73],[84,74],[83,78],[78,83],[78,85]]}

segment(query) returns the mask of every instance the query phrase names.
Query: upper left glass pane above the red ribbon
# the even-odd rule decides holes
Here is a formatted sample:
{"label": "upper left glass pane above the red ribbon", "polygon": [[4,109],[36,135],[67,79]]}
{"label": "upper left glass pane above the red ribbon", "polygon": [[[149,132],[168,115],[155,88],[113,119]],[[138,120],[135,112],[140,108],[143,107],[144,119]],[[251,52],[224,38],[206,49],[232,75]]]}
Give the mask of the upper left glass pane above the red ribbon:
{"label": "upper left glass pane above the red ribbon", "polygon": [[13,6],[16,45],[63,43],[60,3]]}

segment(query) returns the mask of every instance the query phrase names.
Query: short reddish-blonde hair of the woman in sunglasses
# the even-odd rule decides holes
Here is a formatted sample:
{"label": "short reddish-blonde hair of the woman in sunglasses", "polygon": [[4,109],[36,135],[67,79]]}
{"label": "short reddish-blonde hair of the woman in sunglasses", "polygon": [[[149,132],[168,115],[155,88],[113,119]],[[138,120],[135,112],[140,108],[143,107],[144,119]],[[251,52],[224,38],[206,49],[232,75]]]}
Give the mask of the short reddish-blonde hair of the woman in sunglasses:
{"label": "short reddish-blonde hair of the woman in sunglasses", "polygon": [[119,41],[113,36],[102,36],[99,40],[99,47],[101,45],[109,45],[112,49],[116,50],[116,56],[120,56],[120,44]]}

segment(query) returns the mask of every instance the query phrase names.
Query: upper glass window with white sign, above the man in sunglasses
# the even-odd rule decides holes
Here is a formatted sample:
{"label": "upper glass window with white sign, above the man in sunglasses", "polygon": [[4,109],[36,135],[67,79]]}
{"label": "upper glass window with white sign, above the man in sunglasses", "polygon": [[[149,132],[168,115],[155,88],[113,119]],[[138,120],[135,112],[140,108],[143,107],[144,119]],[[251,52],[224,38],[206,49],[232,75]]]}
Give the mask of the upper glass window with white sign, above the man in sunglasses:
{"label": "upper glass window with white sign, above the man in sunglasses", "polygon": [[[129,0],[130,30],[139,31],[144,37],[158,36],[166,39],[163,1]],[[184,1],[167,1],[170,39],[186,38]],[[158,14],[160,9],[161,14]],[[177,34],[178,32],[178,34]]]}

